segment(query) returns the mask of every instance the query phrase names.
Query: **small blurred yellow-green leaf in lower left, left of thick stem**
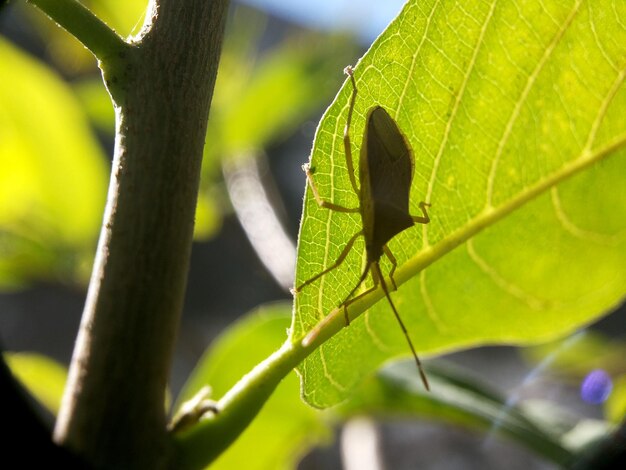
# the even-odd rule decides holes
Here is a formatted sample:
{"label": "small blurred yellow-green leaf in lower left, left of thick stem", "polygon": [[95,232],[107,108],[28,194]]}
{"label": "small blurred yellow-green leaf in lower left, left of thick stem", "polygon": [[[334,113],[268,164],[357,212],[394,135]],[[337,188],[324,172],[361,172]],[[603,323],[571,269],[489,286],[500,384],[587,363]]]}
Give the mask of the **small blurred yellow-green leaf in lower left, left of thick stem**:
{"label": "small blurred yellow-green leaf in lower left, left of thick stem", "polygon": [[67,369],[49,357],[31,353],[5,353],[13,375],[53,415],[59,412]]}

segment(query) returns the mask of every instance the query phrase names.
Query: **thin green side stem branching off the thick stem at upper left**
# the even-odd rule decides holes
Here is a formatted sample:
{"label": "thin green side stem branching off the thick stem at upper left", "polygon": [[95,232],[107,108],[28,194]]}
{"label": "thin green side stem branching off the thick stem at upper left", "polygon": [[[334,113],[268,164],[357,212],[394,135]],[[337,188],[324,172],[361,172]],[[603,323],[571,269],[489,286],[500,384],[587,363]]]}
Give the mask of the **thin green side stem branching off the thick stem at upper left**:
{"label": "thin green side stem branching off the thick stem at upper left", "polygon": [[76,0],[26,0],[89,49],[99,60],[124,50],[128,44],[100,18]]}

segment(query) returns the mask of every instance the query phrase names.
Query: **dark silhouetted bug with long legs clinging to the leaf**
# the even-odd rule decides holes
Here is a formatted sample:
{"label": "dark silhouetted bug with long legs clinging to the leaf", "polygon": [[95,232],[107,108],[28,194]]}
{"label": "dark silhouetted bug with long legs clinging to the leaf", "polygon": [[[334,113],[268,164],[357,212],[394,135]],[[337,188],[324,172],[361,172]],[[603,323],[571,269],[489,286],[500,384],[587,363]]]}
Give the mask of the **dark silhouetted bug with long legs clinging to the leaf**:
{"label": "dark silhouetted bug with long legs clinging to the leaf", "polygon": [[[352,188],[359,197],[359,207],[348,208],[323,200],[317,190],[317,187],[315,186],[313,172],[311,171],[310,166],[308,164],[304,165],[303,169],[306,172],[306,177],[313,196],[315,197],[315,201],[320,207],[337,212],[358,212],[361,214],[363,228],[355,233],[350,240],[348,240],[343,251],[331,266],[316,274],[309,280],[303,282],[297,286],[295,290],[296,292],[300,291],[304,287],[312,284],[328,272],[341,265],[352,249],[357,238],[363,236],[365,239],[365,252],[367,255],[365,270],[361,274],[359,282],[356,286],[354,286],[344,301],[339,304],[340,307],[343,306],[346,325],[350,323],[347,310],[348,306],[361,297],[376,290],[380,284],[383,292],[385,293],[385,297],[387,297],[389,305],[391,306],[391,309],[400,324],[400,328],[409,343],[409,347],[411,348],[411,352],[415,358],[424,387],[426,390],[429,390],[430,387],[428,385],[428,380],[426,379],[426,374],[424,373],[422,364],[417,356],[417,353],[415,352],[409,333],[404,326],[404,322],[400,318],[398,310],[391,300],[391,296],[389,295],[389,288],[380,269],[380,258],[384,254],[391,262],[389,279],[391,280],[393,290],[396,290],[397,286],[393,279],[393,274],[397,267],[397,261],[391,250],[387,247],[387,243],[400,232],[412,227],[415,224],[429,223],[430,218],[426,208],[430,206],[430,204],[427,204],[426,202],[419,203],[419,208],[422,211],[421,216],[414,216],[409,213],[409,193],[411,190],[411,181],[413,180],[414,166],[413,155],[409,143],[402,135],[402,132],[400,132],[398,125],[381,106],[372,107],[367,114],[367,124],[363,135],[363,143],[361,145],[361,154],[359,158],[360,187],[357,185],[354,175],[354,164],[350,144],[350,124],[352,121],[352,112],[354,110],[354,103],[356,101],[358,91],[352,67],[346,67],[344,72],[348,75],[350,81],[352,82],[352,95],[350,97],[350,105],[348,108],[348,117],[346,120],[346,127],[344,129],[343,141],[348,175],[350,177]],[[352,297],[370,272],[372,274],[374,285],[356,297]],[[314,333],[315,330],[305,338],[303,344],[310,343],[312,341],[310,335]]]}

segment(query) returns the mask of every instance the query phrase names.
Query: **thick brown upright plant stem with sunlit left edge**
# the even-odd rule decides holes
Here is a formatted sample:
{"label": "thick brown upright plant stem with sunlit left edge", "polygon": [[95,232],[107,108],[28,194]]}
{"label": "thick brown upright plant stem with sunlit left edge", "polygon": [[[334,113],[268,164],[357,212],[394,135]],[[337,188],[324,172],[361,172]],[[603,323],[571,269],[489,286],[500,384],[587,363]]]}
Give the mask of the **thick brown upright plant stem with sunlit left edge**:
{"label": "thick brown upright plant stem with sunlit left edge", "polygon": [[103,67],[115,155],[54,436],[98,468],[170,465],[165,389],[227,5],[153,0],[137,42]]}

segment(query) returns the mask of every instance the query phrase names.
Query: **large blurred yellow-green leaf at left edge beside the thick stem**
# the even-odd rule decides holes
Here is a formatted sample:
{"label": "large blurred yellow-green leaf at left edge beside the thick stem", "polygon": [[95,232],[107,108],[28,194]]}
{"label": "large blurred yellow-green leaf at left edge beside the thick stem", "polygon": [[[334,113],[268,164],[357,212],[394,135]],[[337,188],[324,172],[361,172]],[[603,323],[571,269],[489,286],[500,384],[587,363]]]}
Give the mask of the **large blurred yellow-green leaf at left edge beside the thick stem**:
{"label": "large blurred yellow-green leaf at left edge beside the thick stem", "polygon": [[75,97],[0,39],[0,285],[86,278],[106,195],[102,151]]}

